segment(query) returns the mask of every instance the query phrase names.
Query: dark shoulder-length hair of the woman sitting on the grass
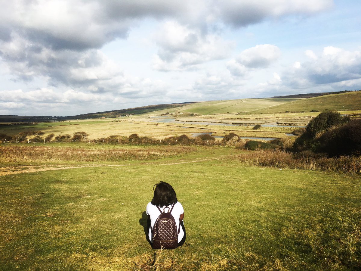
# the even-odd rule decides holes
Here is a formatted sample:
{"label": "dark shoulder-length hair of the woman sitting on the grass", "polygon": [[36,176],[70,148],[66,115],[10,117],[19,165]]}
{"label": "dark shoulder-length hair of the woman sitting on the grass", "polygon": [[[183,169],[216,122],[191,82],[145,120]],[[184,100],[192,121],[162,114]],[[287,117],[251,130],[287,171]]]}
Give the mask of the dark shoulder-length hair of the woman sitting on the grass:
{"label": "dark shoulder-length hair of the woman sitting on the grass", "polygon": [[160,181],[159,184],[153,186],[154,194],[151,203],[155,206],[163,208],[163,206],[177,203],[177,195],[173,187],[167,182]]}

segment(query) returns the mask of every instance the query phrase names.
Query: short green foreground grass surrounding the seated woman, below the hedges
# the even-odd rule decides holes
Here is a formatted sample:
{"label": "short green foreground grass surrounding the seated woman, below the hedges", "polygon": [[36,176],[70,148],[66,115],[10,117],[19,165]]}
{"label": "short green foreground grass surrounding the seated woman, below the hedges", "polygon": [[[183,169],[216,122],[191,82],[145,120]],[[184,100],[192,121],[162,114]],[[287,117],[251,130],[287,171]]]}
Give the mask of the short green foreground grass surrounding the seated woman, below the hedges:
{"label": "short green foreground grass surrounding the seated woman, below the hedges", "polygon": [[[0,176],[0,270],[359,270],[360,175],[252,167],[231,147],[166,148]],[[186,243],[171,251],[145,240],[160,180],[185,210]]]}

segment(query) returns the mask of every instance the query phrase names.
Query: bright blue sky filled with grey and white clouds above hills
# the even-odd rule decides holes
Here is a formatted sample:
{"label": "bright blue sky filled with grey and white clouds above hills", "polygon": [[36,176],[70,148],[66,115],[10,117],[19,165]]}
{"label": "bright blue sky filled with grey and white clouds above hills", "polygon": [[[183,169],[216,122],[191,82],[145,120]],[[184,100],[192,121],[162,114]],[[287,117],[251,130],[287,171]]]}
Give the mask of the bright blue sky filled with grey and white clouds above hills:
{"label": "bright blue sky filled with grey and white clouds above hills", "polygon": [[361,89],[360,0],[0,3],[0,115]]}

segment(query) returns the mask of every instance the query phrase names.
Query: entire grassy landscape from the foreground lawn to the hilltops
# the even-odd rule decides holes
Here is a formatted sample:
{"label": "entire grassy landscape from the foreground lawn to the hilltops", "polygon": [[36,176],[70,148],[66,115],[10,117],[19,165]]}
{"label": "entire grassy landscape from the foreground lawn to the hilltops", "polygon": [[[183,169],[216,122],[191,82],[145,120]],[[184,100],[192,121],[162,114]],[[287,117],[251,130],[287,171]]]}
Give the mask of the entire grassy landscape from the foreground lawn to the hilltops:
{"label": "entire grassy landscape from the foreground lawn to the hilltops", "polygon": [[[292,145],[286,133],[298,127],[287,125],[305,126],[325,107],[358,117],[358,99],[211,101],[3,123],[0,270],[360,270],[360,157],[249,151],[234,141]],[[72,142],[77,132],[88,136]],[[15,143],[21,133],[29,134]],[[41,140],[31,143],[36,133]],[[190,143],[195,133],[233,134]],[[145,207],[159,181],[173,185],[185,210],[187,240],[175,250],[153,250],[145,239]]]}

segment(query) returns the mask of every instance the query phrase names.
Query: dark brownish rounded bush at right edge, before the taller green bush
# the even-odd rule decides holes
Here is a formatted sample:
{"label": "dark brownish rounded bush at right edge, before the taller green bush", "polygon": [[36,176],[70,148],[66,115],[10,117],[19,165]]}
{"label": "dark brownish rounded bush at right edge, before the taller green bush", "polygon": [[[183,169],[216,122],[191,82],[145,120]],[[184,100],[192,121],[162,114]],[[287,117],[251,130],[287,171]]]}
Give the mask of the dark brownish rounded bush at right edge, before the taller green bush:
{"label": "dark brownish rounded bush at right edge, before the taller green bush", "polygon": [[335,126],[317,138],[318,152],[330,157],[340,155],[361,155],[361,119]]}

